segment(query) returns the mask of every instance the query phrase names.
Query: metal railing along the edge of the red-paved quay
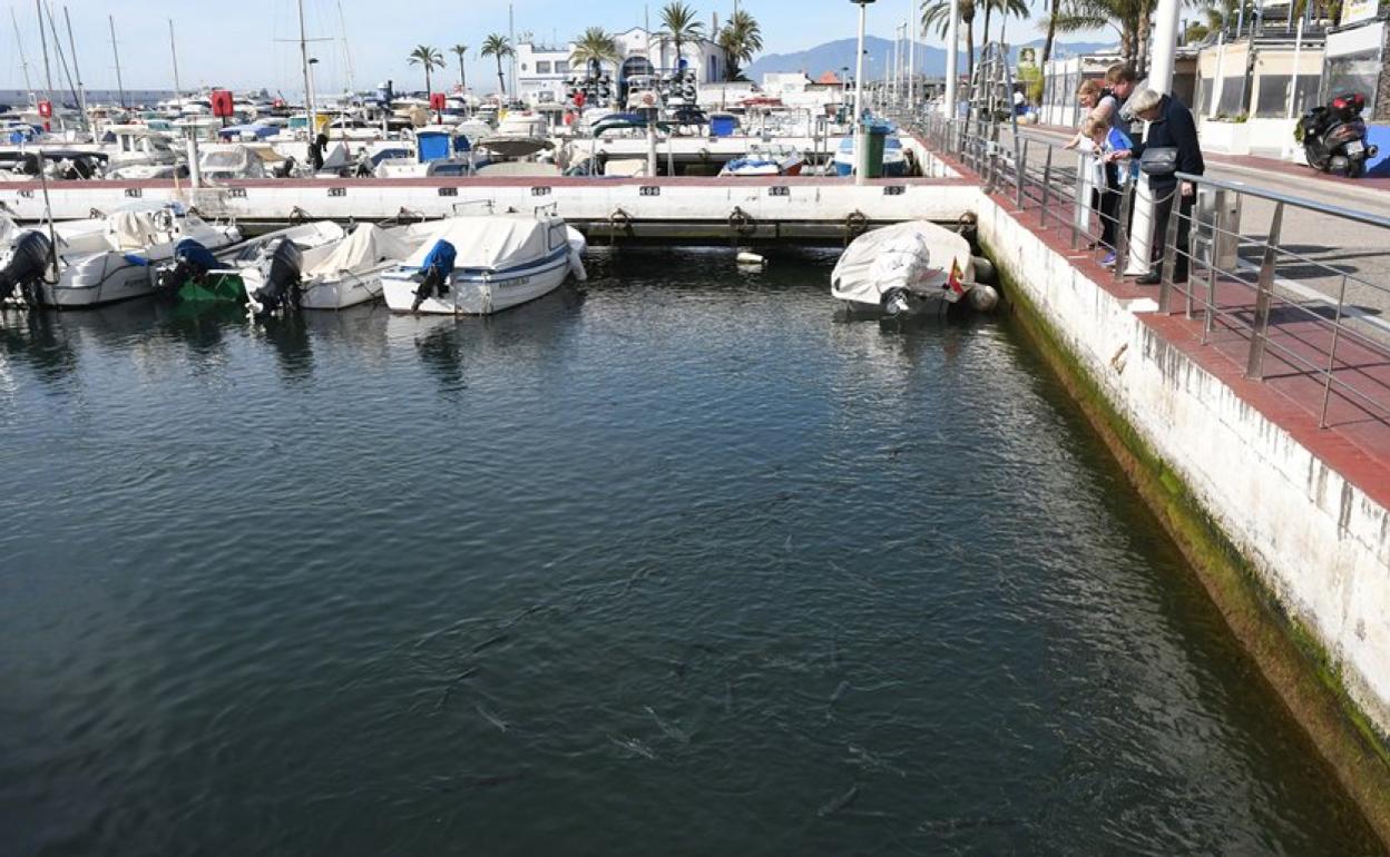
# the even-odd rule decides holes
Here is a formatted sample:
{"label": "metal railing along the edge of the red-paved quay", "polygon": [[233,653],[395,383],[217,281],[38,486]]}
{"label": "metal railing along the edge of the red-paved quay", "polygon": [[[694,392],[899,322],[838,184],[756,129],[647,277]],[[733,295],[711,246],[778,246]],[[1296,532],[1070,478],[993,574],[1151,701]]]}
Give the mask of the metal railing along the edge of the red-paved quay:
{"label": "metal railing along the edge of the red-paved quay", "polygon": [[[1136,182],[1120,192],[1093,193],[1088,156],[1054,140],[1022,135],[1015,154],[1012,144],[972,133],[969,119],[919,114],[901,122],[976,172],[988,190],[1008,192],[1020,219],[1036,217],[1040,228],[1069,233],[1073,250],[1084,244],[1097,254],[1113,254],[1105,260],[1113,265],[1111,276],[1125,276]],[[1158,311],[1200,321],[1201,344],[1241,363],[1247,378],[1301,383],[1297,397],[1316,403],[1319,428],[1329,425],[1334,399],[1351,410],[1341,408],[1332,422],[1390,421],[1390,324],[1377,318],[1390,315],[1390,218],[1243,182],[1177,178],[1194,186],[1194,204],[1187,208],[1173,200],[1172,215],[1155,236],[1162,240],[1151,242],[1161,249]],[[1251,203],[1272,206],[1269,219],[1255,218]],[[1322,244],[1333,243],[1339,226],[1379,231],[1383,238],[1362,243],[1386,249],[1380,251],[1384,282],[1329,261],[1334,249],[1314,258],[1294,250],[1294,242],[1282,243],[1291,213],[1319,218]],[[1268,228],[1261,232],[1262,226]],[[1182,247],[1180,232],[1188,235]],[[1186,278],[1175,276],[1180,261]],[[1348,294],[1357,303],[1348,303]],[[1314,383],[1320,389],[1308,386]]]}

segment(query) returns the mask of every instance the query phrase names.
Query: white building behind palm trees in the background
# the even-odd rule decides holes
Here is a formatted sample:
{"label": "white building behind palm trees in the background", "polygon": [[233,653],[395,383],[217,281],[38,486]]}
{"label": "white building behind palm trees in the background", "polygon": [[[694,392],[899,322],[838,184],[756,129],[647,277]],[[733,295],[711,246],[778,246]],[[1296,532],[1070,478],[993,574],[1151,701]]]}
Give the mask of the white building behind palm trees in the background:
{"label": "white building behind palm trees in the background", "polygon": [[[634,26],[623,33],[613,33],[621,61],[614,68],[605,63],[603,71],[621,85],[637,75],[669,74],[676,68],[676,44],[663,43],[656,33]],[[570,54],[574,43],[563,47],[523,42],[517,44],[517,92],[514,94],[531,103],[564,101],[564,82],[574,75],[584,75],[584,68],[570,68]],[[681,42],[684,68],[695,71],[696,83],[713,83],[724,79],[724,50],[709,39]]]}

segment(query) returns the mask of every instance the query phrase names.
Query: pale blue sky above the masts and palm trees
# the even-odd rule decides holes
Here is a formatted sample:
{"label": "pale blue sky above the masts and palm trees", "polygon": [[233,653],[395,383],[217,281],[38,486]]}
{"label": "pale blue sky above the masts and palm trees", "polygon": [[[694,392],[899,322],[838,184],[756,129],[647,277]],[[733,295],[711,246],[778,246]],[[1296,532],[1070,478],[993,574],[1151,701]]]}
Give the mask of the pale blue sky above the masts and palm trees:
{"label": "pale blue sky above the masts and palm trees", "polygon": [[[111,50],[108,15],[115,19],[121,54],[121,76],[126,89],[172,89],[174,69],[170,56],[168,19],[174,21],[178,49],[179,82],[185,89],[227,86],[232,89],[267,88],[288,97],[299,97],[303,76],[299,65],[299,19],[296,0],[49,0],[54,21],[67,47],[63,19],[64,4],[72,18],[78,71],[88,89],[115,89],[115,63]],[[664,1],[664,0],[662,0]],[[734,10],[734,0],[688,0],[709,26],[710,15],[724,21]],[[1033,0],[1037,8],[1042,0]],[[314,88],[342,92],[349,83],[349,57],[354,89],[374,89],[386,79],[396,89],[424,89],[420,67],[409,65],[407,54],[417,44],[430,44],[445,54],[446,67],[435,72],[435,89],[457,82],[457,57],[453,44],[467,44],[466,71],[475,90],[496,88],[496,65],[478,56],[478,46],[491,33],[507,32],[506,0],[303,0],[306,29],[310,38],[328,39],[310,44],[310,54],[320,58]],[[4,10],[0,35],[0,89],[22,89],[24,68],[17,50],[15,28],[10,13],[18,18],[18,46],[29,63],[35,86],[42,86],[43,58],[39,42],[35,0],[0,0]],[[516,0],[516,32],[531,32],[538,42],[566,42],[587,26],[623,31],[641,25],[644,8],[655,18],[662,3],[619,3],[616,0]],[[803,50],[834,39],[855,35],[856,7],[848,0],[741,0],[741,8],[753,14],[762,26],[764,53]],[[341,17],[339,17],[341,10]],[[869,32],[892,38],[894,28],[905,21],[912,0],[878,0],[869,6]],[[1037,13],[1034,13],[1037,14]],[[345,39],[346,47],[345,51]],[[1034,22],[1011,22],[1011,40],[1038,36]],[[1072,36],[1080,39],[1084,36]],[[50,36],[51,42],[51,36]],[[923,43],[940,44],[935,35]],[[50,43],[50,54],[53,46]],[[71,64],[71,57],[68,58]],[[61,71],[56,54],[50,58],[54,86]]]}

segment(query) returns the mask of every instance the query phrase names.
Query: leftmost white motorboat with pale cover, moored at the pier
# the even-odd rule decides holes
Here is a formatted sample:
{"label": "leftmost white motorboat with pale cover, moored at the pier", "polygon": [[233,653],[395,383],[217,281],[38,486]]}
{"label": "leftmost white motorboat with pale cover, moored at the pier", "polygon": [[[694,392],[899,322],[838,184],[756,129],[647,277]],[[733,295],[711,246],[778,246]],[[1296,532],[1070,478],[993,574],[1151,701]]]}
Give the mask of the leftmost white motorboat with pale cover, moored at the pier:
{"label": "leftmost white motorboat with pale cover, moored at the pier", "polygon": [[58,281],[43,283],[39,300],[53,307],[95,307],[153,294],[156,268],[190,238],[208,250],[240,240],[235,225],[208,224],[181,203],[138,203],[106,217],[104,247],[85,254],[58,251]]}

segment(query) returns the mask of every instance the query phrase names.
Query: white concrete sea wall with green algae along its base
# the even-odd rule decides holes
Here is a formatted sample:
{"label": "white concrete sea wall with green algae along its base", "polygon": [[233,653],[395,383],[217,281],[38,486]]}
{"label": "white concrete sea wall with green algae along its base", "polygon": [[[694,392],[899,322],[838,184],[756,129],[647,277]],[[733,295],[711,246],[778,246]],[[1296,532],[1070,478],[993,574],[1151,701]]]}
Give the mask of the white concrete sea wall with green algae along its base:
{"label": "white concrete sea wall with green algae along its base", "polygon": [[976,213],[1030,333],[1390,840],[1386,506],[1159,332],[1152,297],[1102,288],[995,199]]}

